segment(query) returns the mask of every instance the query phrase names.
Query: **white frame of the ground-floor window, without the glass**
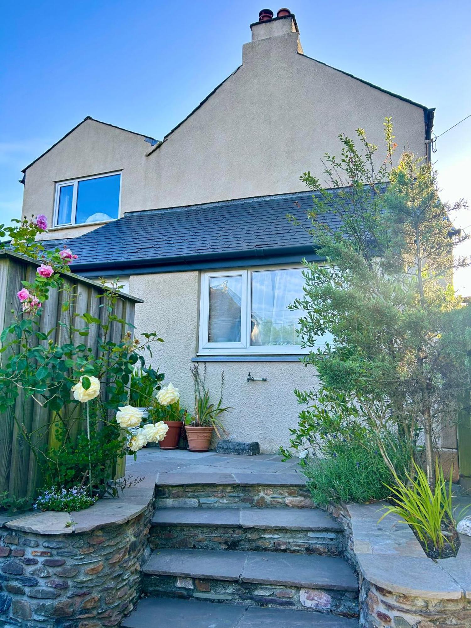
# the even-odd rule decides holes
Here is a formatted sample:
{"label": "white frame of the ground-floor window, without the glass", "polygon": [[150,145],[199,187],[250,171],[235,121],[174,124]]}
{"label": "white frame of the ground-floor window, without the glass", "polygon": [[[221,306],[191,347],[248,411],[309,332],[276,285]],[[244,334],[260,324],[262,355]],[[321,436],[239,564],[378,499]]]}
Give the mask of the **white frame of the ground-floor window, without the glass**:
{"label": "white frame of the ground-floor window, without the glass", "polygon": [[[251,345],[252,273],[257,271],[281,271],[303,269],[301,264],[287,266],[254,266],[252,268],[204,271],[200,281],[200,320],[197,355],[300,355],[308,354],[309,347],[301,345]],[[213,277],[242,276],[241,342],[208,342],[209,282]],[[245,288],[245,290],[244,290]],[[245,312],[244,312],[245,309]],[[300,313],[301,316],[301,313]],[[323,346],[323,345],[319,345]]]}

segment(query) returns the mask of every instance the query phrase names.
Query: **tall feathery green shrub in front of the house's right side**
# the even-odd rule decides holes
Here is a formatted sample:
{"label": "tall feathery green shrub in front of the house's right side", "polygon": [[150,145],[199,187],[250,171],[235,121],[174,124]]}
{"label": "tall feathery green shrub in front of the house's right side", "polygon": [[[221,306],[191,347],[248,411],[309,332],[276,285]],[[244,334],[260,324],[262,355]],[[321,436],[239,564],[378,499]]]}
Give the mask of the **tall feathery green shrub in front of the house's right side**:
{"label": "tall feathery green shrub in front of the house's right side", "polygon": [[[341,158],[326,155],[324,163],[330,187],[342,189],[332,193],[310,173],[301,177],[315,192],[311,233],[327,259],[305,263],[305,295],[293,304],[301,310],[303,344],[312,347],[305,362],[317,369],[321,396],[345,394],[359,409],[391,472],[398,470],[382,435],[395,433],[413,447],[423,433],[433,484],[434,433],[454,420],[460,393],[470,387],[463,330],[471,327],[471,310],[450,283],[453,268],[467,264],[452,255],[465,236],[450,215],[462,203],[442,203],[436,173],[413,155],[393,167],[389,119],[383,160],[362,129],[359,148],[339,138]],[[325,220],[332,213],[339,227]],[[332,342],[315,349],[325,334]]]}

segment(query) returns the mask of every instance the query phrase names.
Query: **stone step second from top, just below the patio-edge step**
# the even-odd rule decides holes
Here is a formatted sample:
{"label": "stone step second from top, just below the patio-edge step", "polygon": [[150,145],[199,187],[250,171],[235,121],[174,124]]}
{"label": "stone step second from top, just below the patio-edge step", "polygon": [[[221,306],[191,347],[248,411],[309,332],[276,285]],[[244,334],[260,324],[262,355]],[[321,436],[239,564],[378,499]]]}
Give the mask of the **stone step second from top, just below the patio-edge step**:
{"label": "stone step second from top, just below the patio-edge step", "polygon": [[239,549],[338,556],[342,528],[317,509],[161,508],[152,519],[152,549]]}

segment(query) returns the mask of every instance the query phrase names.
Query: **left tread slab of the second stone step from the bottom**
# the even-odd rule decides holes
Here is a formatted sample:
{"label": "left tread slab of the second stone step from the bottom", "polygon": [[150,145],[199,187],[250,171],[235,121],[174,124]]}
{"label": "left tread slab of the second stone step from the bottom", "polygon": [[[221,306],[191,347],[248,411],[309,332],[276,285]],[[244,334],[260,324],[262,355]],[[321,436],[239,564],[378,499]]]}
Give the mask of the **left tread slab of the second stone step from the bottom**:
{"label": "left tread slab of the second stone step from the bottom", "polygon": [[144,573],[161,576],[239,580],[247,559],[244,551],[160,549],[144,565]]}

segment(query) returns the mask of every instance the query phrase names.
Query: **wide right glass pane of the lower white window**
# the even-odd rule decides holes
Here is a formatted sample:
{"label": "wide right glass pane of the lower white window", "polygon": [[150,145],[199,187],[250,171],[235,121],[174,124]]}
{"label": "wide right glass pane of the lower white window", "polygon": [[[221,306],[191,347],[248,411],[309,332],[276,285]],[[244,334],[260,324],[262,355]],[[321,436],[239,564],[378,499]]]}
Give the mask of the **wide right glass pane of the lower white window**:
{"label": "wide right glass pane of the lower white window", "polygon": [[288,305],[303,296],[301,269],[252,273],[251,345],[300,345],[298,310]]}

